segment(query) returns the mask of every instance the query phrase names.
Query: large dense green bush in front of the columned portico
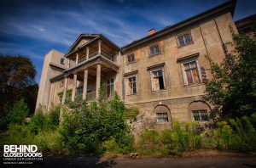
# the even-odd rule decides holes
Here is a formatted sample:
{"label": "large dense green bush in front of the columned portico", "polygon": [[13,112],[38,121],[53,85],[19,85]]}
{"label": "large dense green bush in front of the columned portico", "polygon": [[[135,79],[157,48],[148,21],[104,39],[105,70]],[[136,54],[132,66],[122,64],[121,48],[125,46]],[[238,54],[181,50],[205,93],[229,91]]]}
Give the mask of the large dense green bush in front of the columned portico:
{"label": "large dense green bush in front of the columned portico", "polygon": [[[125,106],[114,94],[99,104],[84,102],[73,105],[73,112],[64,115],[61,140],[71,154],[102,154],[106,150],[131,151],[131,134],[123,116]],[[116,144],[117,148],[113,148]]]}

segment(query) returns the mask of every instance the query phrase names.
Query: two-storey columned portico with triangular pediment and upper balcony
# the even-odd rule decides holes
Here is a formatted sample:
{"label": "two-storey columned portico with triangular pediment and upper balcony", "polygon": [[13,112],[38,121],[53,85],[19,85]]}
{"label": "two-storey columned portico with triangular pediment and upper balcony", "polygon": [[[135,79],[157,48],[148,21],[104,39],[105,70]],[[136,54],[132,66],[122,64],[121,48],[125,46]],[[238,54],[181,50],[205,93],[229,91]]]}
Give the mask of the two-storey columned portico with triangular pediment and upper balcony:
{"label": "two-storey columned portico with triangular pediment and upper balcony", "polygon": [[118,54],[119,48],[109,44],[106,39],[97,37],[96,40],[84,43],[67,53],[65,57],[69,60],[69,68],[64,70],[62,76],[59,77],[61,80],[64,78],[61,104],[65,104],[68,81],[71,80],[72,101],[75,101],[77,96],[87,101],[98,99],[102,83],[107,83],[110,78],[113,79],[117,75],[119,65],[116,58]]}

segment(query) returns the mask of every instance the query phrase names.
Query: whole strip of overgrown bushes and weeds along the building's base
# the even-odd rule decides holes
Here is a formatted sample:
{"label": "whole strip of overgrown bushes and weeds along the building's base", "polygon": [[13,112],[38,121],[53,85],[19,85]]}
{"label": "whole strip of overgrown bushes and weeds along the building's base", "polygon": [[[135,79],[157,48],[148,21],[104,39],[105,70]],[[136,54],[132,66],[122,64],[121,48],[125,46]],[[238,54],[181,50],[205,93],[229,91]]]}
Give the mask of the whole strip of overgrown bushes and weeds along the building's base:
{"label": "whole strip of overgrown bushes and weeds along the building's base", "polygon": [[[17,108],[19,107],[19,108]],[[15,104],[14,110],[26,109],[24,101]],[[73,104],[72,113],[64,111],[59,125],[61,107],[44,114],[38,109],[29,124],[22,122],[23,113],[9,124],[9,130],[0,138],[3,144],[36,144],[45,153],[65,155],[129,154],[163,156],[182,155],[198,149],[249,154],[256,150],[256,114],[218,122],[217,127],[205,129],[197,122],[172,130],[144,130],[137,140],[126,125],[124,104],[115,95],[109,101],[87,105]],[[11,116],[11,115],[10,115]]]}

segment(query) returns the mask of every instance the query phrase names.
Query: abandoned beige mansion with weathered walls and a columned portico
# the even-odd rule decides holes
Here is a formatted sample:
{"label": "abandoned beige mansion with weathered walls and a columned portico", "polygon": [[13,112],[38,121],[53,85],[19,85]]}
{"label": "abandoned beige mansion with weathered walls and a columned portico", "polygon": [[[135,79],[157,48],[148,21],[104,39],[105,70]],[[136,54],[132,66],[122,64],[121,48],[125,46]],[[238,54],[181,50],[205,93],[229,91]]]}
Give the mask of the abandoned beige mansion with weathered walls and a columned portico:
{"label": "abandoned beige mansion with weathered walls and a columned portico", "polygon": [[212,78],[209,55],[221,63],[232,50],[230,26],[237,32],[233,14],[236,1],[204,13],[148,31],[148,36],[123,48],[102,34],[81,34],[66,54],[51,50],[45,55],[38,101],[46,109],[67,100],[98,98],[107,83],[126,106],[136,106],[161,128],[175,120],[206,121],[212,104],[202,100],[205,80]]}

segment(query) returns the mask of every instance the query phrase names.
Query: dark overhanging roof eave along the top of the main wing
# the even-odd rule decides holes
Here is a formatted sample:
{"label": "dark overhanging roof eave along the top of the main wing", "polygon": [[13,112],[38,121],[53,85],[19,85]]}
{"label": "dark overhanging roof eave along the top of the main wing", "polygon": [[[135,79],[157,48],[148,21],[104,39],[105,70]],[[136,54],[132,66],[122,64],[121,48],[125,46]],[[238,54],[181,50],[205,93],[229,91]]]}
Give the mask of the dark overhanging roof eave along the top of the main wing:
{"label": "dark overhanging roof eave along the top of the main wing", "polygon": [[201,23],[202,21],[207,20],[207,19],[211,18],[212,16],[216,16],[217,14],[223,14],[224,12],[230,12],[233,16],[235,8],[236,8],[236,0],[230,0],[227,3],[222,3],[222,4],[218,5],[217,7],[211,8],[201,14],[197,14],[197,15],[189,18],[188,20],[183,20],[182,22],[179,22],[176,25],[166,26],[161,31],[157,31],[153,35],[145,36],[137,41],[131,42],[130,44],[125,45],[121,49],[122,49],[122,51],[125,51],[130,48],[137,47],[138,45],[141,45],[144,42],[154,40],[155,38],[164,36],[173,31],[180,30],[189,25]]}

